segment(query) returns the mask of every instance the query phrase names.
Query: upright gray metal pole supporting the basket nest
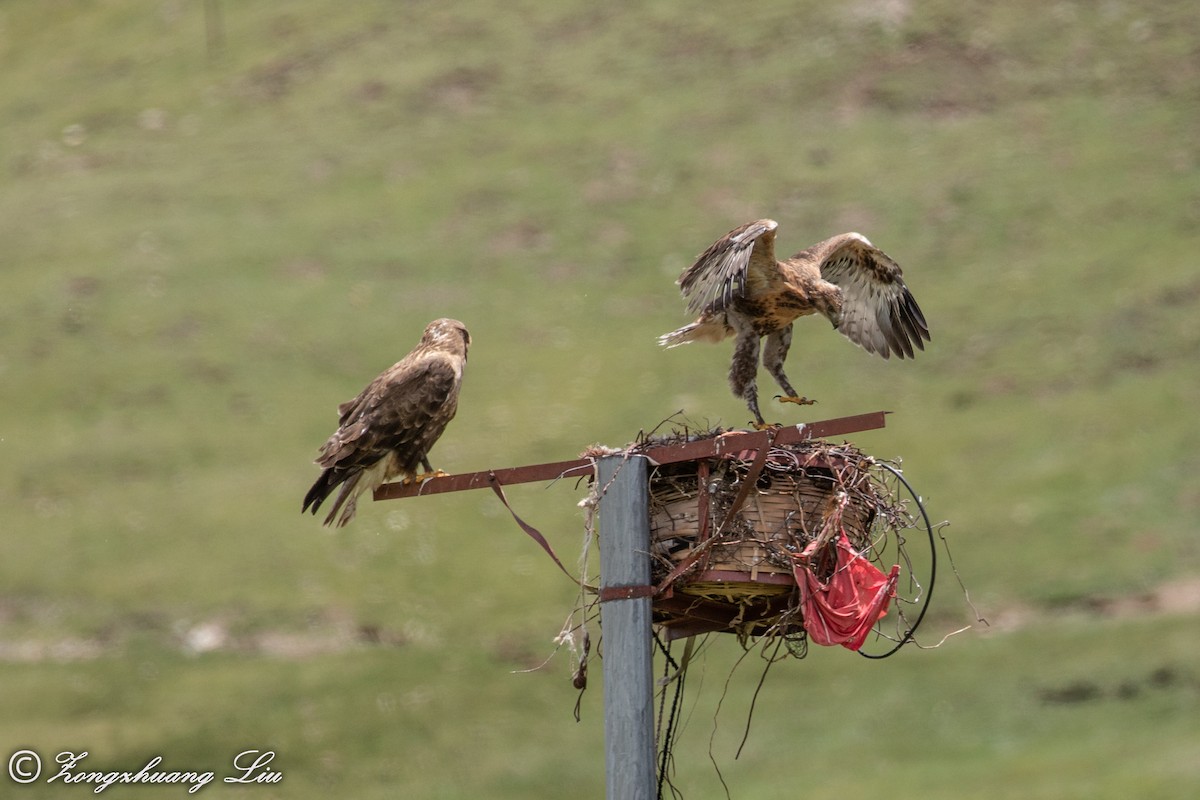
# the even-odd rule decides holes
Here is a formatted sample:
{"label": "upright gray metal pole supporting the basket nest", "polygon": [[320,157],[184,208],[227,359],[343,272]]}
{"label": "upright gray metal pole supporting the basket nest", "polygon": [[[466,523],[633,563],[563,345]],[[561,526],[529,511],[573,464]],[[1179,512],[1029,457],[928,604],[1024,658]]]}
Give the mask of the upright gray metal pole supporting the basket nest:
{"label": "upright gray metal pole supporting the basket nest", "polygon": [[[608,456],[600,459],[598,473],[600,487],[607,487],[600,499],[606,796],[653,800],[652,599],[644,591],[650,582],[646,457]],[[623,587],[641,589],[629,593],[636,596],[605,600],[620,595]]]}

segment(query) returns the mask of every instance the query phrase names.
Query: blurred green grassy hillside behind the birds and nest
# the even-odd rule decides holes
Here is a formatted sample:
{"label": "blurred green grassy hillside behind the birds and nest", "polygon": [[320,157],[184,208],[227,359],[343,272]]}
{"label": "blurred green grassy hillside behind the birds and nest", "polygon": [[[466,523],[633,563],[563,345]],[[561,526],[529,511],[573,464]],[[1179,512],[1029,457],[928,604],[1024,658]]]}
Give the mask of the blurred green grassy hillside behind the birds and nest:
{"label": "blurred green grassy hillside behind the birds and nest", "polygon": [[[854,440],[992,626],[774,667],[737,760],[761,664],[718,715],[712,642],[677,784],[724,798],[712,754],[733,796],[1195,796],[1198,42],[1192,4],[1121,0],[0,5],[4,754],[600,796],[598,676],[576,723],[565,654],[514,674],[571,585],[486,493],[330,533],[310,461],[440,315],[475,339],[443,469],[743,426],[728,348],[654,337],[769,216],[904,265],[925,354],[802,321],[790,373],[818,419],[895,411]],[[566,557],[581,497],[510,492]],[[973,620],[949,579],[935,610],[929,643]]]}

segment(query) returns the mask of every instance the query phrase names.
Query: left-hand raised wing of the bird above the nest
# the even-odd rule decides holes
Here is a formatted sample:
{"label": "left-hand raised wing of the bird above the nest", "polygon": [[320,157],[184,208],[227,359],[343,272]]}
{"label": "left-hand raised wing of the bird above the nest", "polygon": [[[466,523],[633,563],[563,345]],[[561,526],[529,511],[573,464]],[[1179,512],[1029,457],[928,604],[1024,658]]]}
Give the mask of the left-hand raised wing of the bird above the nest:
{"label": "left-hand raised wing of the bird above the nest", "polygon": [[718,239],[679,276],[688,311],[725,311],[746,294],[746,283],[766,284],[779,277],[774,219],[756,219]]}

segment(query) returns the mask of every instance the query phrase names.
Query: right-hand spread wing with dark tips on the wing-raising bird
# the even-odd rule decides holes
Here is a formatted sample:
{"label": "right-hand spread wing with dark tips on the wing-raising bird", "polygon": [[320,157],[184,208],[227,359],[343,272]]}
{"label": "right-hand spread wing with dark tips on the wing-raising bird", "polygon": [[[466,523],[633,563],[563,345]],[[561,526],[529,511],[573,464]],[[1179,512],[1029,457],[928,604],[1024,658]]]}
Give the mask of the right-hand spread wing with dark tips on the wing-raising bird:
{"label": "right-hand spread wing with dark tips on the wing-raising bird", "polygon": [[[884,359],[925,349],[929,325],[901,278],[900,265],[860,234],[840,234],[814,245],[821,277],[841,289],[838,330]],[[799,257],[800,254],[798,254]]]}

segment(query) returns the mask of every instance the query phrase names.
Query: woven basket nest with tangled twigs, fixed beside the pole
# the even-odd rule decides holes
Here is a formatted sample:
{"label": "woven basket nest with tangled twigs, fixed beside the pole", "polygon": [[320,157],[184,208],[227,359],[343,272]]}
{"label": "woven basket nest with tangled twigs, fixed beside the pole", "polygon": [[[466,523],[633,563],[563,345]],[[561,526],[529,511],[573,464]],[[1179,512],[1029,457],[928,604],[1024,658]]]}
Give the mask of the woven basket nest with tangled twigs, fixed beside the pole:
{"label": "woven basket nest with tangled twigs, fixed beside the pole", "polygon": [[851,445],[822,440],[773,446],[731,518],[756,455],[652,470],[652,578],[667,582],[654,619],[668,638],[802,633],[792,557],[821,537],[830,542],[832,570],[832,542],[841,529],[870,558],[876,522],[894,519],[876,462]]}

